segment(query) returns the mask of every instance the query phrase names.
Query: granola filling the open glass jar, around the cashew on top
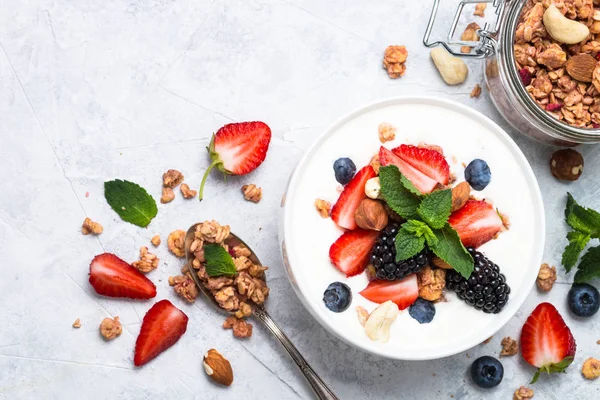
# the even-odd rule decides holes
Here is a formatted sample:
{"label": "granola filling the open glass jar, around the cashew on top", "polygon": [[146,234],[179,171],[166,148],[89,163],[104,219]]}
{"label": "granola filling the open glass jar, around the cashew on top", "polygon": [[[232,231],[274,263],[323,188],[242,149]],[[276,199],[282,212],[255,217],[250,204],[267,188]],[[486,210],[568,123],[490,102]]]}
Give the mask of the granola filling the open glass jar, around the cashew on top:
{"label": "granola filling the open glass jar, around the cashew on top", "polygon": [[[575,44],[552,38],[543,19],[552,4],[566,18],[587,26],[590,34]],[[514,55],[527,92],[550,115],[572,126],[600,128],[599,53],[600,10],[593,0],[527,0]]]}

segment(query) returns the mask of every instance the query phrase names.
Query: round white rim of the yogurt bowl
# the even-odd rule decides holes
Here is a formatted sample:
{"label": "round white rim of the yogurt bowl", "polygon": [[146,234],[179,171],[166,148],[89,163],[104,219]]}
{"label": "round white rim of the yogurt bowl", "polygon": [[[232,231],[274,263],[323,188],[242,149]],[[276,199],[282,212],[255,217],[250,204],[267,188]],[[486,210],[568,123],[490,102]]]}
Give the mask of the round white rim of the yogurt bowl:
{"label": "round white rim of the yogurt bowl", "polygon": [[[331,323],[324,320],[319,315],[319,313],[316,312],[316,310],[313,308],[312,304],[309,303],[308,300],[306,299],[306,296],[302,292],[302,289],[300,288],[300,286],[297,284],[296,279],[294,277],[294,271],[293,271],[293,267],[291,265],[291,261],[287,255],[287,253],[288,253],[287,249],[289,248],[289,246],[286,245],[286,237],[287,238],[290,237],[289,231],[292,228],[291,228],[291,223],[289,221],[289,219],[291,218],[289,210],[291,208],[286,207],[285,205],[289,201],[289,199],[292,199],[294,197],[293,195],[294,195],[296,182],[299,179],[301,171],[304,169],[303,168],[304,165],[307,163],[307,160],[309,160],[309,158],[311,158],[311,156],[313,155],[315,150],[320,145],[322,145],[322,143],[325,140],[327,140],[333,132],[335,132],[340,127],[342,127],[346,123],[350,122],[354,118],[359,117],[363,113],[367,113],[367,112],[376,110],[378,108],[391,106],[391,105],[395,105],[395,104],[411,104],[411,103],[412,104],[419,103],[419,104],[429,104],[429,105],[434,105],[434,106],[441,106],[441,107],[462,113],[463,115],[467,116],[468,118],[474,119],[476,121],[479,121],[483,125],[486,125],[490,129],[490,131],[493,131],[493,133],[496,134],[497,138],[499,140],[501,140],[508,147],[508,149],[514,155],[515,159],[519,162],[524,178],[526,179],[526,181],[528,181],[530,183],[531,194],[532,194],[531,201],[533,202],[534,210],[537,210],[536,220],[539,221],[537,229],[536,229],[536,231],[537,231],[536,236],[537,236],[538,240],[536,240],[535,246],[537,247],[537,249],[534,250],[533,255],[534,255],[534,260],[538,260],[538,264],[541,263],[541,261],[543,259],[543,253],[544,253],[545,241],[546,241],[546,219],[545,219],[544,203],[542,200],[540,187],[539,187],[538,181],[535,177],[535,174],[533,173],[531,165],[529,164],[529,161],[527,161],[527,158],[525,157],[525,155],[523,154],[523,152],[521,151],[519,146],[508,135],[508,133],[506,133],[506,131],[504,131],[504,129],[502,129],[502,127],[500,127],[492,119],[490,119],[489,117],[487,117],[480,111],[477,111],[471,107],[468,107],[468,106],[458,103],[456,101],[448,100],[448,99],[440,99],[440,98],[436,98],[433,96],[395,96],[395,97],[386,98],[384,100],[379,100],[376,102],[370,102],[362,107],[354,109],[353,111],[342,116],[341,118],[337,119],[337,121],[335,121],[333,124],[328,126],[317,137],[317,139],[310,145],[310,147],[308,147],[308,149],[306,149],[304,151],[304,154],[302,155],[302,157],[296,164],[296,167],[294,168],[294,171],[292,172],[292,175],[290,176],[286,191],[283,195],[283,199],[281,202],[282,212],[280,215],[280,238],[279,238],[280,240],[279,240],[279,242],[280,242],[283,262],[285,265],[286,275],[294,289],[294,292],[300,299],[301,303],[304,305],[304,308],[306,308],[309,311],[309,313],[319,322],[319,324],[321,326],[323,326],[327,331],[331,332],[336,338],[341,339],[343,342],[347,343],[348,345],[350,345],[354,348],[357,348],[357,349],[360,349],[367,353],[375,354],[375,355],[378,355],[378,356],[381,356],[384,358],[396,359],[396,360],[406,360],[406,361],[436,360],[436,359],[440,359],[440,358],[444,358],[444,357],[449,357],[449,356],[461,353],[463,351],[466,351],[468,349],[471,349],[471,348],[475,347],[476,345],[480,344],[486,338],[496,334],[500,329],[502,329],[508,323],[508,321],[511,318],[513,318],[514,315],[519,311],[519,309],[523,306],[525,300],[531,293],[531,289],[533,288],[533,286],[535,284],[535,277],[537,276],[537,269],[533,268],[533,266],[530,268],[531,269],[531,272],[529,274],[529,275],[531,275],[530,276],[530,278],[531,278],[530,289],[527,292],[525,292],[525,290],[523,290],[523,293],[518,298],[512,299],[513,302],[516,302],[513,304],[517,304],[517,306],[514,306],[514,312],[499,314],[498,318],[500,318],[500,320],[499,320],[500,322],[498,324],[494,324],[494,327],[492,329],[482,330],[482,332],[484,332],[484,333],[479,335],[481,337],[481,340],[477,340],[474,343],[465,341],[461,345],[449,348],[445,352],[437,352],[435,355],[425,353],[423,356],[418,356],[418,355],[417,356],[412,356],[412,355],[411,356],[403,356],[402,354],[391,354],[389,352],[386,352],[384,348],[363,347],[363,345],[361,344],[360,341],[352,340],[350,338],[346,338],[346,337],[343,337],[340,334],[338,334],[338,332],[336,332],[336,330],[333,328]],[[476,336],[475,338],[479,339],[478,336]]]}

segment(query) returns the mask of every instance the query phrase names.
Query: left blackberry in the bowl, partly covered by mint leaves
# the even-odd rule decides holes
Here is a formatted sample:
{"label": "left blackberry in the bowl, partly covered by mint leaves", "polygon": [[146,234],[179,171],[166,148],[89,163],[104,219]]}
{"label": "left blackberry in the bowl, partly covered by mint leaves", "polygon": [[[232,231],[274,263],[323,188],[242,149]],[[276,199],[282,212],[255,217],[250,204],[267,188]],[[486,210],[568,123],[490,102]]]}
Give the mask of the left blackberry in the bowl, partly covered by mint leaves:
{"label": "left blackberry in the bowl, partly covered by mint leaves", "polygon": [[408,260],[396,262],[396,234],[399,224],[392,222],[386,226],[373,249],[370,264],[374,267],[375,277],[380,280],[396,281],[412,273],[419,272],[431,261],[431,252],[427,247]]}

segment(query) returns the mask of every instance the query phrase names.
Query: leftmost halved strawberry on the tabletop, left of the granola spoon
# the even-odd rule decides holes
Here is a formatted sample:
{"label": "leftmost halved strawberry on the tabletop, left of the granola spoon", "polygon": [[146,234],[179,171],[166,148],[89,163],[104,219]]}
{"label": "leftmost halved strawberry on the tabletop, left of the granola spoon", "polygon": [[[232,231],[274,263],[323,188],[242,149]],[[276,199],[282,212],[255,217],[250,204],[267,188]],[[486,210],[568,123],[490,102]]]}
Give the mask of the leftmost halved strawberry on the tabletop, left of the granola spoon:
{"label": "leftmost halved strawberry on the tabletop, left of the granola spoon", "polygon": [[90,264],[90,284],[108,297],[151,299],[156,286],[137,269],[110,253],[99,254]]}

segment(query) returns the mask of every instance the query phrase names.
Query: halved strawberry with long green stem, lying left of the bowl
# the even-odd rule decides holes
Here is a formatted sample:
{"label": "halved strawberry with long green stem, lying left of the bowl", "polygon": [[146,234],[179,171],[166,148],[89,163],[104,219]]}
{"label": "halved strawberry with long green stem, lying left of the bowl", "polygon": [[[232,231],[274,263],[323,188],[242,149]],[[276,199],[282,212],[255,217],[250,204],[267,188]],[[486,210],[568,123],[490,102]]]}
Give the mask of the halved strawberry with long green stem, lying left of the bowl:
{"label": "halved strawberry with long green stem, lying left of the bowl", "polygon": [[219,129],[207,147],[212,163],[200,184],[200,200],[213,167],[230,175],[252,172],[265,160],[270,142],[271,128],[264,122],[237,122]]}

